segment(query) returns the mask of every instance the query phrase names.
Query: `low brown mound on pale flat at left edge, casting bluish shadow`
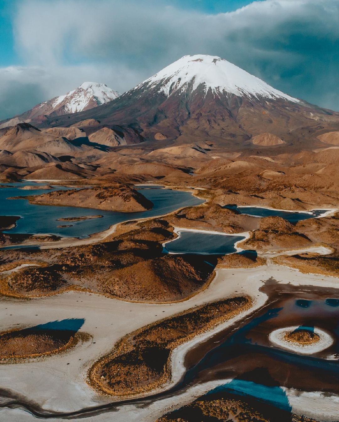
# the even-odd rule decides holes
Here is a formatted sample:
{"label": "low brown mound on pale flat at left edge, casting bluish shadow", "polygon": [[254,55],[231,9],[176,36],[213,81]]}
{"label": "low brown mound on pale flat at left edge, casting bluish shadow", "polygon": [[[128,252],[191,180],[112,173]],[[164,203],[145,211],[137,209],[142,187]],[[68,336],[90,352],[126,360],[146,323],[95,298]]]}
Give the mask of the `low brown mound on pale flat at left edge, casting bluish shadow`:
{"label": "low brown mound on pale flat at left edge, casting bluish shadow", "polygon": [[0,334],[0,357],[29,357],[50,354],[73,341],[73,331],[27,328]]}

